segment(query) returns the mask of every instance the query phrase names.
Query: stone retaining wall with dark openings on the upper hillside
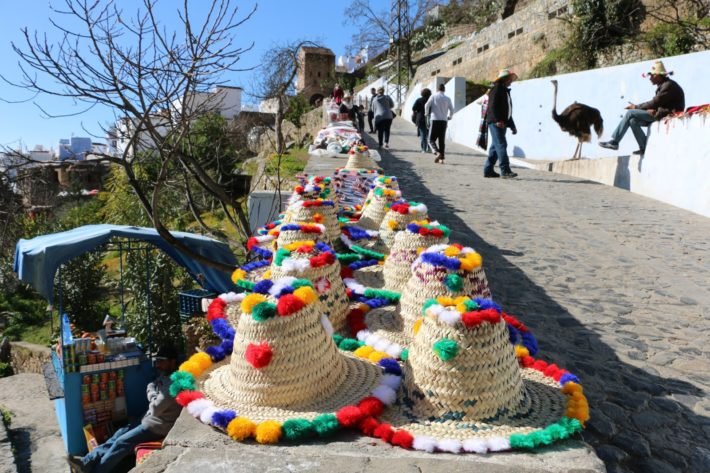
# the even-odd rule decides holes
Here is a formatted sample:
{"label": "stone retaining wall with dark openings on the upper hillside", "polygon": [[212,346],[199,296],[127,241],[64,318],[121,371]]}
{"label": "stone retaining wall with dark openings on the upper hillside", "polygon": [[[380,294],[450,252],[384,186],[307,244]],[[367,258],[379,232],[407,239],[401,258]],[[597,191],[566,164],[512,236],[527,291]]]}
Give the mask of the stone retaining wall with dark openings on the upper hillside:
{"label": "stone retaining wall with dark openings on the upper hillside", "polygon": [[432,76],[463,76],[482,82],[508,67],[519,75],[532,69],[550,49],[562,44],[566,24],[558,17],[569,0],[540,0],[468,37],[446,54],[421,65],[414,82]]}

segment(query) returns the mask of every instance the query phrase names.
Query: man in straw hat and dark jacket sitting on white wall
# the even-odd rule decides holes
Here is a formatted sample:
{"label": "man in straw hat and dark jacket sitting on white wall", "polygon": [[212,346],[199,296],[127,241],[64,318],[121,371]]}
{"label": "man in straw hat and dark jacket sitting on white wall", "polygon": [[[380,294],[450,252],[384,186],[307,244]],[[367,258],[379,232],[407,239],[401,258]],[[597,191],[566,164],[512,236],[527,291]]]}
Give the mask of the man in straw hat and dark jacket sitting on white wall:
{"label": "man in straw hat and dark jacket sitting on white wall", "polygon": [[673,112],[682,112],[685,109],[683,89],[678,83],[668,77],[669,73],[666,72],[666,68],[661,61],[656,61],[648,75],[651,83],[657,86],[656,95],[648,102],[639,105],[630,103],[626,107],[628,112],[626,112],[619,126],[612,133],[611,140],[599,142],[599,146],[602,148],[619,149],[619,142],[621,142],[626,131],[631,127],[631,131],[639,144],[639,149],[634,151],[634,154],[643,154],[646,151],[647,136],[642,127],[648,126]]}

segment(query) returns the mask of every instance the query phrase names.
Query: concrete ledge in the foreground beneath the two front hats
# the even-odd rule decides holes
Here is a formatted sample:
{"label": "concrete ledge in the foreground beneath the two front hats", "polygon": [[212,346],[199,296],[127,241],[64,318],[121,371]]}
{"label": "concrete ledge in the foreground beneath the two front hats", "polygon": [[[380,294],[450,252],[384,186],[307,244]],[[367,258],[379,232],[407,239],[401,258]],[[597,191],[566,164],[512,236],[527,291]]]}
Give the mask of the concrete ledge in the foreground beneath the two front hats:
{"label": "concrete ledge in the foreground beneath the two front hats", "polygon": [[165,447],[134,472],[195,473],[196,471],[272,472],[420,472],[450,473],[596,473],[606,471],[581,439],[535,453],[491,455],[425,454],[391,447],[384,442],[342,432],[331,442],[268,446],[238,443],[193,419],[186,411],[165,439]]}

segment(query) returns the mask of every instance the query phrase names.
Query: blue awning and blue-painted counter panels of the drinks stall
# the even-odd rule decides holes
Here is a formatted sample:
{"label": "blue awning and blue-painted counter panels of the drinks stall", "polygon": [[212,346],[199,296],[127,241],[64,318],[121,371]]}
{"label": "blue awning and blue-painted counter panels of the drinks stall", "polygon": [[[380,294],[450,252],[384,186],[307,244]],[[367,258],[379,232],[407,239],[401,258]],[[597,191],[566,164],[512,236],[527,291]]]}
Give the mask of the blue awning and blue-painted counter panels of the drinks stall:
{"label": "blue awning and blue-painted counter panels of the drinks stall", "polygon": [[[171,233],[193,252],[233,267],[237,265],[236,257],[223,242],[190,233]],[[185,268],[198,284],[209,291],[222,293],[234,289],[228,273],[189,258],[170,246],[155,229],[122,225],[87,225],[30,240],[21,239],[15,249],[14,270],[20,280],[31,284],[52,302],[57,269],[72,258],[107,244],[114,237],[136,239],[154,245]],[[68,319],[62,316],[60,321],[61,350],[52,352],[54,368],[52,374],[56,376],[61,391],[59,395],[54,396],[55,410],[67,452],[72,455],[83,455],[87,451],[83,431],[85,406],[82,403],[82,380],[84,376],[100,376],[102,373],[121,371],[124,376],[125,413],[129,418],[140,418],[148,407],[146,386],[155,378],[155,373],[150,358],[136,351],[132,353],[133,356],[109,359],[104,363],[84,365],[80,368],[77,368],[76,364],[72,366],[71,360],[67,362],[64,347],[71,346],[74,341],[71,339]]]}

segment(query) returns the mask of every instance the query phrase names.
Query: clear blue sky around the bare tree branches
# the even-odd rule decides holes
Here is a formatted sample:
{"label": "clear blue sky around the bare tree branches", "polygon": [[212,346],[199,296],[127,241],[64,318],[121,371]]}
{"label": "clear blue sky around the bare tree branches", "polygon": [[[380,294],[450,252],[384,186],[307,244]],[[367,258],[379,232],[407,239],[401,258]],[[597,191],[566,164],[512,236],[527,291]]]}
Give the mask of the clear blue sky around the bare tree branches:
{"label": "clear blue sky around the bare tree branches", "polygon": [[[206,8],[208,0],[191,0],[191,8],[196,13]],[[379,0],[377,0],[379,1]],[[382,0],[384,1],[384,0]],[[254,0],[232,0],[243,12],[254,6]],[[136,0],[119,0],[120,5],[131,10]],[[278,43],[293,40],[312,40],[329,47],[336,55],[345,53],[351,42],[354,26],[343,25],[342,15],[349,5],[347,0],[261,0],[252,18],[235,32],[236,43],[246,47],[254,42],[254,47],[242,57],[243,67],[258,66],[262,54]],[[40,33],[52,32],[50,17],[56,14],[50,4],[61,7],[63,0],[24,0],[23,2],[5,2],[0,16],[0,73],[10,80],[19,79],[18,58],[13,52],[11,42],[23,44],[22,27]],[[161,0],[161,8],[174,10],[182,1]],[[168,17],[166,15],[166,17]],[[168,23],[169,27],[170,24]],[[56,38],[56,36],[55,36]],[[50,38],[51,39],[51,38]],[[225,77],[225,82],[242,86],[245,89],[253,83],[253,72],[233,73]],[[248,92],[248,90],[247,90]],[[32,99],[32,95],[0,82],[0,99],[20,101]],[[249,99],[245,97],[248,101]],[[86,128],[93,133],[100,133],[99,123],[112,120],[107,110],[91,110],[81,116],[66,118],[46,118],[33,103],[37,102],[53,114],[76,113],[83,108],[71,99],[38,96],[25,103],[6,103],[0,101],[0,146],[18,146],[22,140],[24,146],[32,148],[36,144],[56,149],[60,138],[71,136],[89,136]]]}

